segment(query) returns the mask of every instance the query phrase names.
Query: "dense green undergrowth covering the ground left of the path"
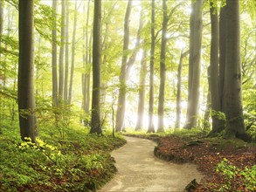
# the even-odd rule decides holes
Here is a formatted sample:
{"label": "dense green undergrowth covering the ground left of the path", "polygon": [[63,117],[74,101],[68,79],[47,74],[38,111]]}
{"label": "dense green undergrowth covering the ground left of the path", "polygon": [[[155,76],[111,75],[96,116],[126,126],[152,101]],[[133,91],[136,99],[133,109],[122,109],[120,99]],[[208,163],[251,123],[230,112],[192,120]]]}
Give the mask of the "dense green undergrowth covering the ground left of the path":
{"label": "dense green undergrowth covering the ground left of the path", "polygon": [[94,191],[116,172],[110,152],[126,142],[80,126],[66,129],[62,140],[49,127],[39,133],[37,144],[24,143],[17,126],[2,127],[0,191]]}

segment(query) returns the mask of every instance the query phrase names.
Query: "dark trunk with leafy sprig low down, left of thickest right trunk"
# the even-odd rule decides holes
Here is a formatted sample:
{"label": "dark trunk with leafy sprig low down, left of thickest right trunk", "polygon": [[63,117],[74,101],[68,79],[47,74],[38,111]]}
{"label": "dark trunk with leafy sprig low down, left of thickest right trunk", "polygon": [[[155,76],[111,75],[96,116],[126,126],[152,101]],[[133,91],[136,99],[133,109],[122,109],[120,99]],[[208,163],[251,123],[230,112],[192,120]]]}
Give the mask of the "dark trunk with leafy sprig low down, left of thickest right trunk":
{"label": "dark trunk with leafy sprig low down, left of thickest right trunk", "polygon": [[210,81],[209,86],[211,90],[211,119],[212,129],[211,134],[222,131],[222,121],[219,120],[218,113],[220,112],[220,98],[219,98],[219,67],[218,67],[218,9],[213,7],[211,3],[211,59],[210,59]]}

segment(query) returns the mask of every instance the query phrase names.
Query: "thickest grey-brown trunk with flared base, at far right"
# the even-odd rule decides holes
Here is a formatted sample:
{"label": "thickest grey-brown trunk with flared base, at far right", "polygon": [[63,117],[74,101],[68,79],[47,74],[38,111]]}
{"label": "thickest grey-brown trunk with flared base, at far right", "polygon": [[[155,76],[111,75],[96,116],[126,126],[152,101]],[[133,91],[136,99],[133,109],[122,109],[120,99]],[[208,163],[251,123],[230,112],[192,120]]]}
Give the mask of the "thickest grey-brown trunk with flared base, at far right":
{"label": "thickest grey-brown trunk with flared base, at far right", "polygon": [[246,135],[241,85],[239,0],[226,1],[226,62],[224,106],[225,135],[242,138]]}

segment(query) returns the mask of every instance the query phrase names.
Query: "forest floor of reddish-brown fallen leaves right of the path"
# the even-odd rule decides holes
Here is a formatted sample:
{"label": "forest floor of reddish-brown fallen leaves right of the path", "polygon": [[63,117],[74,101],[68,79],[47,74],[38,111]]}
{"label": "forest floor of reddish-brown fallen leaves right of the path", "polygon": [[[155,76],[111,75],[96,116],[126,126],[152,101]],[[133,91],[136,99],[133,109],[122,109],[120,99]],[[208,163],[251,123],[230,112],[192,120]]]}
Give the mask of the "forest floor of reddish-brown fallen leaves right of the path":
{"label": "forest floor of reddish-brown fallen leaves right of the path", "polygon": [[197,164],[207,176],[189,191],[256,191],[255,144],[182,134],[134,136],[156,141],[155,155],[163,160]]}

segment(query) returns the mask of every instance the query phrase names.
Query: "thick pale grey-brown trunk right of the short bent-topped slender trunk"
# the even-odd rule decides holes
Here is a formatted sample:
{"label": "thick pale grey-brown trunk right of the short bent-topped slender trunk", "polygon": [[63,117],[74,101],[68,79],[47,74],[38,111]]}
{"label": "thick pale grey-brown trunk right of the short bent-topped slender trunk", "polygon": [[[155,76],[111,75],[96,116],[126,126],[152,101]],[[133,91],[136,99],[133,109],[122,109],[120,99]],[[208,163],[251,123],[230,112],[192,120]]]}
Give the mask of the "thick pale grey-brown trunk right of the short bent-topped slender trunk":
{"label": "thick pale grey-brown trunk right of the short bent-topped slender trunk", "polygon": [[190,15],[190,58],[189,58],[189,93],[187,117],[184,128],[197,127],[199,86],[200,86],[200,59],[202,47],[202,9],[203,0],[192,0]]}

